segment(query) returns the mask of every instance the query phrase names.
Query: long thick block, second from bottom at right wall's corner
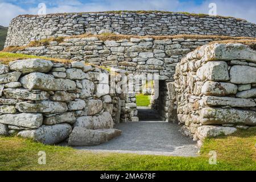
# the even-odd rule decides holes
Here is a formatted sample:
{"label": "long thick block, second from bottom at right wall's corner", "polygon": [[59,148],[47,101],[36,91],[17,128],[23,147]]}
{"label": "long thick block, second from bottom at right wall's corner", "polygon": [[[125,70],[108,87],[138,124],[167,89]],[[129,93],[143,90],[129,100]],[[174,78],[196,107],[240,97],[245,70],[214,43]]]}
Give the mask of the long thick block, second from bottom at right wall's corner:
{"label": "long thick block, second from bottom at right wall's corner", "polygon": [[201,110],[200,122],[203,125],[220,125],[225,123],[256,125],[256,112],[234,108],[221,109],[205,107]]}

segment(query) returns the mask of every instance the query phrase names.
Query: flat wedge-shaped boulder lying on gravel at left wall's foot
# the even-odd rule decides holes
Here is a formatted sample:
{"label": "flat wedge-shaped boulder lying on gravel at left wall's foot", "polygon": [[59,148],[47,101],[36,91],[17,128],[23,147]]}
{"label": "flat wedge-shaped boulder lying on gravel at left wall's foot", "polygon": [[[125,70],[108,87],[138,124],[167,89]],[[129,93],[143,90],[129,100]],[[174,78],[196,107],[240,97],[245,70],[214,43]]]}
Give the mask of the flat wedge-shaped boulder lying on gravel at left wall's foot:
{"label": "flat wedge-shaped boulder lying on gravel at left wall's foot", "polygon": [[108,142],[121,135],[117,129],[88,130],[84,127],[75,127],[69,136],[69,146],[94,146]]}

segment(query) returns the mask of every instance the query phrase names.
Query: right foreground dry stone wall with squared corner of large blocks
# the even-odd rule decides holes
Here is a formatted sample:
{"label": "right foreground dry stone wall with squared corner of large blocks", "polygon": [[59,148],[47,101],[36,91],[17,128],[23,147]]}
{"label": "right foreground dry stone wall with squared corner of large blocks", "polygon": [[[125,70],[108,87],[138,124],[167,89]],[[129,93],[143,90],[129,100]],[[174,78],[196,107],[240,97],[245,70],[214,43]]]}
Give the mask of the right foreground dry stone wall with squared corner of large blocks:
{"label": "right foreground dry stone wall with squared corner of large blocks", "polygon": [[196,140],[256,126],[256,51],[244,44],[209,44],[176,66],[177,118]]}

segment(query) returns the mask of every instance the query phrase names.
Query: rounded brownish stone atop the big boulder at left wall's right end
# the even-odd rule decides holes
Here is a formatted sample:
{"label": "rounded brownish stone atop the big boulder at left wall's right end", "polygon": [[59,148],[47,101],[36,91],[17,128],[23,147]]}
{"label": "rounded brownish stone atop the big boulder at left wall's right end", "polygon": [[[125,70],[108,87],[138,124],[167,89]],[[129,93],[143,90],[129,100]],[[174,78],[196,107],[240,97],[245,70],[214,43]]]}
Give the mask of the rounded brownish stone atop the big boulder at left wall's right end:
{"label": "rounded brownish stone atop the big boulder at left wall's right end", "polygon": [[88,115],[94,115],[102,110],[101,100],[86,100],[85,101],[85,111]]}

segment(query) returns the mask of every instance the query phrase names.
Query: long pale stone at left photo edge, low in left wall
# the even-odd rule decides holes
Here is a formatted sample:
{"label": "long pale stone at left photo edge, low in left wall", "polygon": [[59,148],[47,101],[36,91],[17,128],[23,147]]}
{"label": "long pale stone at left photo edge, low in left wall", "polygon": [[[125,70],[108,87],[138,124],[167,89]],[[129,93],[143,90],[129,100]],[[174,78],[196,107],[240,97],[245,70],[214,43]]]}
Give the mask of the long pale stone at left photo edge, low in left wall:
{"label": "long pale stone at left photo edge, low in left wall", "polygon": [[37,129],[43,123],[42,114],[20,113],[0,115],[0,123]]}

